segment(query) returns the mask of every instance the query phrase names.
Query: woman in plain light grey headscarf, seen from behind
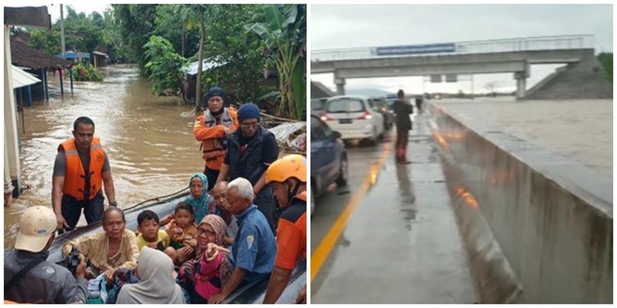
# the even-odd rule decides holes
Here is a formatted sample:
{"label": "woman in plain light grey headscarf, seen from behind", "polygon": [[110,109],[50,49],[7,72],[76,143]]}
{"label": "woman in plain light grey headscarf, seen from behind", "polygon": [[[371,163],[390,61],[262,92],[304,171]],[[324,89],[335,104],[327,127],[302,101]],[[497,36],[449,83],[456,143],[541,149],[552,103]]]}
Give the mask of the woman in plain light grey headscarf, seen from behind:
{"label": "woman in plain light grey headscarf, seen from behind", "polygon": [[165,253],[144,247],[139,253],[136,275],[141,280],[124,285],[116,304],[185,304],[173,278],[173,263]]}

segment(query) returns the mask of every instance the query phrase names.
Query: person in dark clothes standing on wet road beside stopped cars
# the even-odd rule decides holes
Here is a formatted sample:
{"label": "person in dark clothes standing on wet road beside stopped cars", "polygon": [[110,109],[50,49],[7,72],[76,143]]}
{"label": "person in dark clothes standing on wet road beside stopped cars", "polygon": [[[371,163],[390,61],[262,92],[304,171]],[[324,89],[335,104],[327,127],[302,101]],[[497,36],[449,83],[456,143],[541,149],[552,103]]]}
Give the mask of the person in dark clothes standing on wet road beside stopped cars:
{"label": "person in dark clothes standing on wet road beside stopped cars", "polygon": [[392,109],[396,115],[396,162],[408,164],[407,143],[409,131],[412,129],[412,120],[409,115],[413,113],[413,107],[405,102],[405,92],[402,89],[397,92],[397,100],[392,103]]}

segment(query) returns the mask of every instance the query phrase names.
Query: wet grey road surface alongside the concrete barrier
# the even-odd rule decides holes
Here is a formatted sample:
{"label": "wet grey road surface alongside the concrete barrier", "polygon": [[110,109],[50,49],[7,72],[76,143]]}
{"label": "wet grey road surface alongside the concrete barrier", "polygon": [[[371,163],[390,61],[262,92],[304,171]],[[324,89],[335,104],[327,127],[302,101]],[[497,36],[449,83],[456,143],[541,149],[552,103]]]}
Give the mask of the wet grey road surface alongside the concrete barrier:
{"label": "wet grey road surface alongside the concrete barrier", "polygon": [[[366,177],[372,184],[312,280],[313,303],[477,301],[427,116],[417,116],[410,131],[412,164],[394,163],[394,134],[377,147],[348,147],[347,187],[333,187],[316,200],[313,252]],[[384,150],[387,157],[375,178],[369,166]]]}

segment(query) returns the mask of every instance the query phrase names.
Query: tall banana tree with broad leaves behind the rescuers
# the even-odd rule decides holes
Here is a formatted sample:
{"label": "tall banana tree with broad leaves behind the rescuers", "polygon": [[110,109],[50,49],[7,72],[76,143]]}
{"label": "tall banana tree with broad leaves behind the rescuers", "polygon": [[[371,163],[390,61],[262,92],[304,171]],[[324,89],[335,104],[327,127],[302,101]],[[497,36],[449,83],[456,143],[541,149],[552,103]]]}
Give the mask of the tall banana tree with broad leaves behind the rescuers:
{"label": "tall banana tree with broad leaves behind the rescuers", "polygon": [[245,25],[259,34],[265,54],[266,71],[276,67],[281,91],[281,115],[300,118],[306,106],[306,5],[265,5],[265,23]]}

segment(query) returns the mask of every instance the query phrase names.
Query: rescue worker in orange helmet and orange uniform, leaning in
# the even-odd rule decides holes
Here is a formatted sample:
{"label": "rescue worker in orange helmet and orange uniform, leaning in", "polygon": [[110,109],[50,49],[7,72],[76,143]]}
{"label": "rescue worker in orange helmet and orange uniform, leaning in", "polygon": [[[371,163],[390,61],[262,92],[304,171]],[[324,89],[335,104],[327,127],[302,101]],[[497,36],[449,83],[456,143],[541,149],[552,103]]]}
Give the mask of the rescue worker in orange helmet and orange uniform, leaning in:
{"label": "rescue worker in orange helmet and orange uniform, leaning in", "polygon": [[[299,262],[307,260],[307,166],[302,155],[286,155],[276,160],[266,171],[278,207],[283,214],[276,229],[275,267],[270,276],[264,304],[273,304],[285,290],[291,272]],[[306,286],[296,302],[306,301]]]}

